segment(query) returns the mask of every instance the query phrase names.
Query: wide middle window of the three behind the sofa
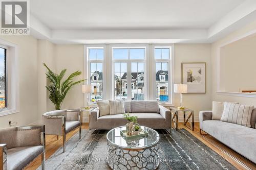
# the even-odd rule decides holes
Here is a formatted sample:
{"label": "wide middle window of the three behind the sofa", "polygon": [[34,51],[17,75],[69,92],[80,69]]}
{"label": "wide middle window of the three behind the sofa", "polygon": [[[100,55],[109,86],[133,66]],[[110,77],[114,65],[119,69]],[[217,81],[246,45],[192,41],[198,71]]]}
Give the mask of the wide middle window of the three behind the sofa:
{"label": "wide middle window of the three behind the sofa", "polygon": [[145,52],[146,47],[112,47],[115,100],[145,100]]}

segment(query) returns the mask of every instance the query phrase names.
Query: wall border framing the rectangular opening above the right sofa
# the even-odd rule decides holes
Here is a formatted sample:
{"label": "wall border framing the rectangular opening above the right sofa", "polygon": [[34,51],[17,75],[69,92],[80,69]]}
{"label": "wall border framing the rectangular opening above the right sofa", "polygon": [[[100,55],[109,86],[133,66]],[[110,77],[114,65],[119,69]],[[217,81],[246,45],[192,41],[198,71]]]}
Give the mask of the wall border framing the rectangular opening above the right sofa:
{"label": "wall border framing the rectangular opening above the right sofa", "polygon": [[[237,39],[238,37],[241,37],[251,31],[255,31],[256,30],[256,21],[250,23],[249,25],[245,26],[244,28],[237,30],[233,33],[231,33],[230,35],[226,36],[225,38],[216,41],[215,43],[212,43],[211,45],[211,64],[212,64],[212,100],[214,101],[230,101],[230,102],[239,102],[241,104],[250,104],[250,105],[254,105],[256,106],[256,99],[255,98],[246,98],[246,97],[241,97],[241,96],[230,96],[230,95],[221,95],[217,93],[217,69],[218,69],[218,62],[217,62],[217,58],[218,58],[218,50],[219,47],[222,46],[223,44],[230,42],[234,39]],[[234,58],[234,60],[236,60]],[[256,63],[256,58],[254,60],[254,63]],[[242,67],[240,67],[241,69],[243,69],[243,67],[246,67],[247,65],[241,65]],[[254,77],[252,77],[254,78]]]}

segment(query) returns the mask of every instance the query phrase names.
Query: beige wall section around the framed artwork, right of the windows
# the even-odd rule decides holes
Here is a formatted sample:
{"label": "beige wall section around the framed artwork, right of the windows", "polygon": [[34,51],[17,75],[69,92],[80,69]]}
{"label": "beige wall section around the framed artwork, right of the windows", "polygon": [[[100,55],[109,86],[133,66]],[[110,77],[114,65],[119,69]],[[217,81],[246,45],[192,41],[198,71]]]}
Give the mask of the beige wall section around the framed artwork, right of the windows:
{"label": "beige wall section around the framed artwork, right of the windows", "polygon": [[[210,44],[175,44],[174,83],[181,83],[182,62],[206,62],[206,93],[183,94],[182,105],[195,111],[195,121],[199,121],[199,111],[211,109],[211,45]],[[175,106],[180,105],[180,94],[175,94]],[[183,122],[182,115],[179,120]]]}

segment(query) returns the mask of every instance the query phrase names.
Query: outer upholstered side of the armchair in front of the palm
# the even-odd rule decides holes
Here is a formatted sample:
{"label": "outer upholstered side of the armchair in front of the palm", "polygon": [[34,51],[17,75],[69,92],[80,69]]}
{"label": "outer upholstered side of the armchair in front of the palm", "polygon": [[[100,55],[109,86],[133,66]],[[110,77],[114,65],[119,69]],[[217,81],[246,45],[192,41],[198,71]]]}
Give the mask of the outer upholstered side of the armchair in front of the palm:
{"label": "outer upholstered side of the armchair in front of the palm", "polygon": [[47,135],[62,135],[62,128],[65,127],[65,115],[42,116],[42,123],[45,125]]}

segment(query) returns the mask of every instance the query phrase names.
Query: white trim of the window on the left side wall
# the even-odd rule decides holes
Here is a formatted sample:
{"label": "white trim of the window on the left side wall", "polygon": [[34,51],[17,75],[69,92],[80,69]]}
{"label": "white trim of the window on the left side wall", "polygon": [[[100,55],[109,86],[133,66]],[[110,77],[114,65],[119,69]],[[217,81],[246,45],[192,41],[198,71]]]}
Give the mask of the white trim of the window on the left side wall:
{"label": "white trim of the window on the left side wall", "polygon": [[19,74],[18,47],[16,44],[0,39],[0,44],[7,49],[7,108],[0,111],[0,116],[19,112]]}

